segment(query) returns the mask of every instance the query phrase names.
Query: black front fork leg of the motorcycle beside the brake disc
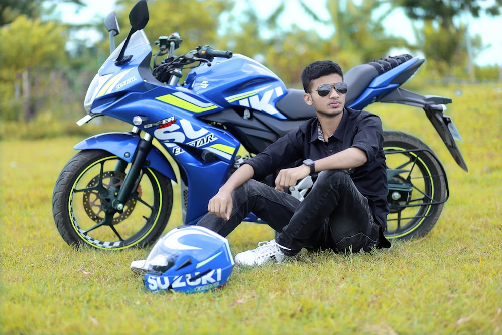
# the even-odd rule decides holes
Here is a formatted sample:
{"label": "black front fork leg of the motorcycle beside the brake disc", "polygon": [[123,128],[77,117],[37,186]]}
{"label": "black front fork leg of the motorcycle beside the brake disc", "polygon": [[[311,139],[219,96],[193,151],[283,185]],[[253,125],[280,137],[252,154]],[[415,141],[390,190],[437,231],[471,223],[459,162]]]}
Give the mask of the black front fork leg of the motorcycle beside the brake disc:
{"label": "black front fork leg of the motorcycle beside the brake disc", "polygon": [[[133,132],[140,134],[141,130],[138,127],[134,127]],[[140,182],[138,178],[140,177],[142,167],[145,165],[146,158],[153,147],[152,141],[152,135],[146,133],[144,138],[140,139],[138,142],[138,147],[131,161],[131,168],[124,178],[117,197],[112,202],[112,207],[116,210],[123,210],[124,204],[128,201],[131,192],[138,188],[137,183]],[[115,171],[125,172],[127,165],[128,163],[126,161],[119,161],[115,166]]]}

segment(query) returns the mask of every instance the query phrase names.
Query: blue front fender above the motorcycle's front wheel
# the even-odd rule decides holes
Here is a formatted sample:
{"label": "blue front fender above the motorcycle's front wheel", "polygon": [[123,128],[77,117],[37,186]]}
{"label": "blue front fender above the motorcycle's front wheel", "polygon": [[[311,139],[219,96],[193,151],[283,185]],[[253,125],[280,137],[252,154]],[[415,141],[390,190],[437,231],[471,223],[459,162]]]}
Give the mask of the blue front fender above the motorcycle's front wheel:
{"label": "blue front fender above the motorcycle's front wheel", "polygon": [[[131,163],[139,141],[140,136],[135,133],[105,133],[89,137],[77,143],[73,148],[77,150],[104,150]],[[169,179],[177,182],[171,164],[158,148],[153,147],[150,150],[147,156],[147,163],[146,167],[155,169]]]}

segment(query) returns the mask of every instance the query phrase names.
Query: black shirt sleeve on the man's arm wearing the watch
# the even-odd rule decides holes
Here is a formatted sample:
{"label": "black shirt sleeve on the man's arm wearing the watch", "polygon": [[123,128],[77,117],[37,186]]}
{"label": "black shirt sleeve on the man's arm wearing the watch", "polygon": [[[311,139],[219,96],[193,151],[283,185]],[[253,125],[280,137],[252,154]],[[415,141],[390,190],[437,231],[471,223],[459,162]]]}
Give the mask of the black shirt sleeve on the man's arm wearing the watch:
{"label": "black shirt sleeve on the man's arm wearing the watch", "polygon": [[366,153],[367,163],[370,164],[378,155],[384,144],[382,121],[374,114],[367,114],[358,122],[351,147],[361,149]]}

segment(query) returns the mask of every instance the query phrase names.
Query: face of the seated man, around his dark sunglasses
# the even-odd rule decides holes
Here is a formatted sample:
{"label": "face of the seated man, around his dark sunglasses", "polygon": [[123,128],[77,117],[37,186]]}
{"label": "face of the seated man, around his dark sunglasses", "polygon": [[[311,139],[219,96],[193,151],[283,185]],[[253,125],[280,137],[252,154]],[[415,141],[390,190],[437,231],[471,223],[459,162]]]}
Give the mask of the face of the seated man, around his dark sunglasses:
{"label": "face of the seated man, around his dark sunglasses", "polygon": [[[335,117],[342,113],[345,106],[345,94],[338,92],[333,88],[333,84],[342,82],[339,74],[333,73],[327,76],[319,77],[312,81],[311,92],[305,93],[303,98],[308,105],[313,105],[318,114],[326,117]],[[331,85],[331,91],[326,96],[320,96],[317,93],[319,85]]]}

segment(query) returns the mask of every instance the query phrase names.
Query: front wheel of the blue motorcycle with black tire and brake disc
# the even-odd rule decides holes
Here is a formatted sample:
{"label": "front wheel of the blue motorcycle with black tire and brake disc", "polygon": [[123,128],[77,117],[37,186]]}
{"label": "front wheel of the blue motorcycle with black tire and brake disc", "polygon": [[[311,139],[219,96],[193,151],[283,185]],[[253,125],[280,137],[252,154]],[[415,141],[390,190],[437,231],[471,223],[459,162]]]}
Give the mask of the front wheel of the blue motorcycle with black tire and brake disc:
{"label": "front wheel of the blue motorcycle with black tire and brake disc", "polygon": [[52,212],[59,234],[70,246],[106,250],[144,247],[163,233],[173,206],[173,187],[171,180],[156,170],[142,169],[138,187],[122,212],[106,212],[128,171],[115,172],[117,163],[123,161],[106,151],[84,150],[59,174]]}

